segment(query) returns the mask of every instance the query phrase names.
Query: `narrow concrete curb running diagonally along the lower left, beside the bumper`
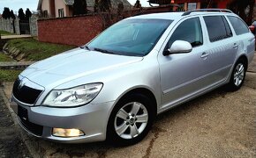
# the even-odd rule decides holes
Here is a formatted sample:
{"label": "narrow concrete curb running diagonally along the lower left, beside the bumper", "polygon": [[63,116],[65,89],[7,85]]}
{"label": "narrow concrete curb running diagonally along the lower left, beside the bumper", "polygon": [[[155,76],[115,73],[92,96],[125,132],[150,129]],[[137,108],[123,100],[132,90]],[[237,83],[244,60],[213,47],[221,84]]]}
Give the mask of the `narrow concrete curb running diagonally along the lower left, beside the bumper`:
{"label": "narrow concrete curb running diagonally along the lower left, beside the bumper", "polygon": [[4,104],[5,106],[8,108],[10,114],[11,114],[11,118],[14,122],[14,126],[17,128],[17,130],[19,131],[19,134],[21,136],[21,140],[24,142],[24,144],[26,145],[26,148],[29,152],[29,154],[32,156],[32,157],[35,157],[35,158],[39,158],[41,157],[40,154],[38,154],[33,146],[33,144],[29,141],[29,137],[27,135],[27,133],[25,133],[21,127],[19,126],[19,123],[18,123],[18,119],[17,119],[17,115],[15,114],[14,111],[12,111],[11,109],[11,106],[10,106],[10,102],[8,100],[8,97],[6,96],[6,94],[4,93],[4,90],[3,90],[3,85],[0,83],[0,97],[3,97],[4,99]]}

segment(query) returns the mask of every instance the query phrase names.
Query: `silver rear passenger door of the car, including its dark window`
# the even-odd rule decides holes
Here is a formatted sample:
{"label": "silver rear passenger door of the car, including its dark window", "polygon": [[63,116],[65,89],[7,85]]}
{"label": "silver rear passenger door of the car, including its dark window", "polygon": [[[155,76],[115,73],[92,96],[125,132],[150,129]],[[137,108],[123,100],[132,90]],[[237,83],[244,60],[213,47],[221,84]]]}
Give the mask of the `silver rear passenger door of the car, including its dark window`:
{"label": "silver rear passenger door of the car, including its dark window", "polygon": [[212,73],[207,80],[214,83],[223,83],[227,80],[230,70],[237,56],[237,39],[231,32],[227,19],[222,15],[203,17],[207,27],[207,49],[211,56],[209,68]]}

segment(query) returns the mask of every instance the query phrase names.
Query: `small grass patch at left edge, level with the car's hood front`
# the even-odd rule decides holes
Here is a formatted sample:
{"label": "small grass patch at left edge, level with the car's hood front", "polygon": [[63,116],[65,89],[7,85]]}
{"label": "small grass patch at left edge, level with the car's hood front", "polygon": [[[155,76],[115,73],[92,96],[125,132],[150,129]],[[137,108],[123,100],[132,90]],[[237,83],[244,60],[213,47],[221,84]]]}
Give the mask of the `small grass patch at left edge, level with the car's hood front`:
{"label": "small grass patch at left edge, level with the car's hood front", "polygon": [[22,70],[0,69],[0,83],[14,82]]}

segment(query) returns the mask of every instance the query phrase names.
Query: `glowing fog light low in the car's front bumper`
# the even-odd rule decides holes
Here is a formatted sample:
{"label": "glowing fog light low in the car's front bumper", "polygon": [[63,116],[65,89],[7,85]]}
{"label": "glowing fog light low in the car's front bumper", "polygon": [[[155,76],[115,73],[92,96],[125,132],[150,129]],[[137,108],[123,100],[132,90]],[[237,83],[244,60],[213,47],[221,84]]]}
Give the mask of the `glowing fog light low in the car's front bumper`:
{"label": "glowing fog light low in the car's front bumper", "polygon": [[79,129],[53,128],[52,135],[56,137],[79,137],[85,135]]}

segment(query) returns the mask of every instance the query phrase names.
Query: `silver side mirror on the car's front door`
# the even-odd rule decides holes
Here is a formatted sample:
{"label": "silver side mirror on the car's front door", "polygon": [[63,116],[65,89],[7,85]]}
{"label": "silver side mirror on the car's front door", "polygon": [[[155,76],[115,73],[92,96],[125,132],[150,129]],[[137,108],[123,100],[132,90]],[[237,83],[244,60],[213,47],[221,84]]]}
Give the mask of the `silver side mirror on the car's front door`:
{"label": "silver side mirror on the car's front door", "polygon": [[185,54],[192,51],[192,45],[184,40],[176,40],[168,50],[163,52],[164,56],[169,54]]}

